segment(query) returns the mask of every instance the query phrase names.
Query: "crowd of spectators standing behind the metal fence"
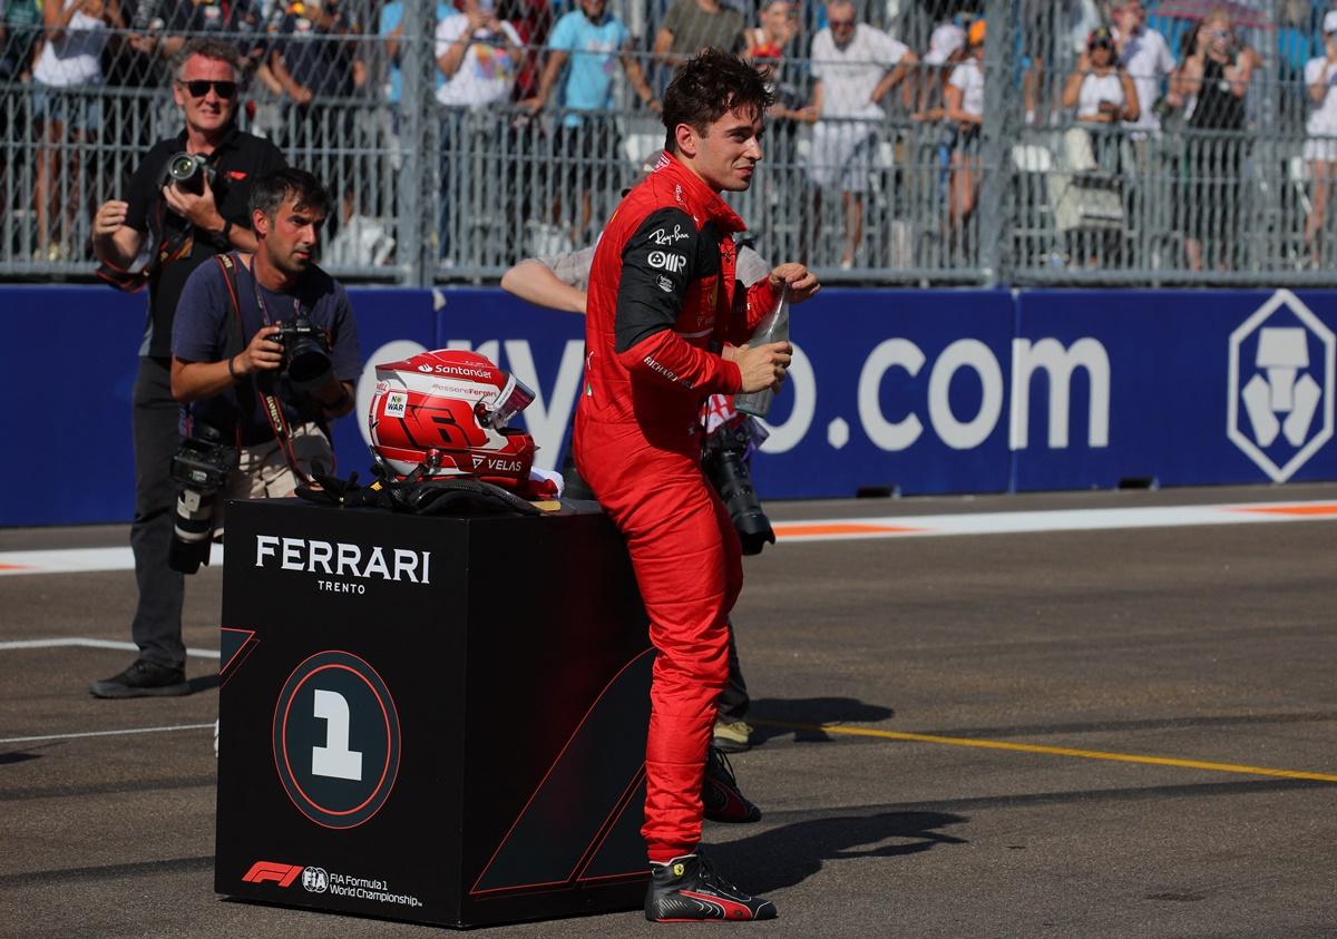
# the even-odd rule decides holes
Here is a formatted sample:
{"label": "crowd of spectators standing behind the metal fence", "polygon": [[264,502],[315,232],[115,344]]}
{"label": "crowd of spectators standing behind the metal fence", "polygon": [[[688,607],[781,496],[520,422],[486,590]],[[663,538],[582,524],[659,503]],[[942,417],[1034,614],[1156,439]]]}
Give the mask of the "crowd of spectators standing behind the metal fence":
{"label": "crowd of spectators standing behind the metal fence", "polygon": [[[435,0],[440,171],[452,173],[468,114],[493,115],[508,134],[541,127],[551,138],[543,152],[570,173],[547,181],[551,205],[537,221],[572,243],[587,241],[604,197],[624,182],[619,161],[639,156],[623,152],[622,119],[652,118],[671,70],[714,45],[770,68],[767,159],[790,167],[801,250],[816,264],[877,266],[864,246],[888,127],[931,140],[936,234],[956,251],[944,258],[964,257],[984,174],[987,87],[1001,80],[1016,139],[1059,140],[1048,169],[1063,169],[1068,189],[1051,183],[1047,198],[1067,233],[1063,264],[1146,261],[1120,234],[1152,223],[1134,205],[1135,183],[1115,187],[1112,203],[1106,197],[1116,225],[1088,223],[1100,203],[1090,179],[1099,174],[1174,177],[1175,209],[1159,223],[1178,233],[1182,264],[1245,264],[1242,181],[1266,110],[1270,130],[1305,140],[1297,150],[1304,262],[1317,266],[1330,257],[1324,231],[1337,175],[1334,5],[1015,0],[1015,21],[1003,29],[985,23],[983,0]],[[37,255],[78,251],[57,237],[78,229],[78,201],[62,194],[82,190],[80,144],[103,123],[98,95],[56,92],[160,87],[183,36],[217,32],[247,66],[250,127],[281,147],[321,106],[349,107],[324,120],[325,135],[348,142],[361,132],[349,116],[357,103],[389,115],[393,135],[408,108],[404,20],[405,0],[0,0],[0,83],[7,94],[25,86],[32,100]],[[1007,36],[1003,67],[985,60],[991,27]],[[1170,130],[1174,147],[1162,142]],[[521,142],[532,148],[531,138]],[[897,143],[893,159],[905,162],[904,151]],[[374,171],[365,162],[342,169]],[[346,221],[358,211],[358,186],[342,182]],[[444,231],[445,213],[443,257],[460,239]]]}

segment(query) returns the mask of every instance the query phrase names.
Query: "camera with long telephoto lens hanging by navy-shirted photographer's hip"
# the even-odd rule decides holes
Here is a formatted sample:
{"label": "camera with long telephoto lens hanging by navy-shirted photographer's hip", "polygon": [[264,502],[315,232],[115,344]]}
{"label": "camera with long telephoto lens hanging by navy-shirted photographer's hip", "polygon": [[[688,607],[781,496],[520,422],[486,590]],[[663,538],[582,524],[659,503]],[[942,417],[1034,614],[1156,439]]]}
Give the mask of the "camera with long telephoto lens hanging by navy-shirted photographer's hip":
{"label": "camera with long telephoto lens hanging by navy-shirted photographer's hip", "polygon": [[222,435],[211,427],[198,425],[197,431],[199,436],[182,440],[171,460],[171,478],[179,492],[167,566],[182,574],[194,574],[209,563],[214,499],[237,468],[235,447],[223,444]]}

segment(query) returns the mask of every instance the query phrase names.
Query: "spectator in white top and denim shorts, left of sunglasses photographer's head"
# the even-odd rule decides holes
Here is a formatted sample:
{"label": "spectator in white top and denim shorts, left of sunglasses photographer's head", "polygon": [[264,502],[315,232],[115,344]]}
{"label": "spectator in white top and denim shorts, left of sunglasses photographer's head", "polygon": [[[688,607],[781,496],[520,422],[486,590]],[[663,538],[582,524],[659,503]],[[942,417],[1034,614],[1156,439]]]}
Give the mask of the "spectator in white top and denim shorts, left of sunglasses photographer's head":
{"label": "spectator in white top and denim shorts, left of sunglasses photographer's head", "polygon": [[116,0],[47,0],[41,21],[45,39],[32,67],[39,86],[32,114],[41,142],[35,187],[37,259],[68,261],[79,247],[75,219],[83,217],[83,144],[102,128],[102,100],[82,92],[102,84],[102,49],[108,25],[120,23],[120,8]]}

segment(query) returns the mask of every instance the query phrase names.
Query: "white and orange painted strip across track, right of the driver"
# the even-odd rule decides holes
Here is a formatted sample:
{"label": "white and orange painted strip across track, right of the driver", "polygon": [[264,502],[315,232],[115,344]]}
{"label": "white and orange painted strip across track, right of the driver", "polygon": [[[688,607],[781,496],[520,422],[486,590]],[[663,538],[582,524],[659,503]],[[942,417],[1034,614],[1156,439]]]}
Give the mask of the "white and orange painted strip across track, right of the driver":
{"label": "white and orange painted strip across track, right of the driver", "polygon": [[862,538],[943,535],[1017,535],[1048,531],[1175,528],[1266,522],[1337,522],[1337,503],[1234,503],[1148,508],[1076,508],[1035,512],[961,515],[886,515],[877,518],[774,522],[779,543],[836,542]]}

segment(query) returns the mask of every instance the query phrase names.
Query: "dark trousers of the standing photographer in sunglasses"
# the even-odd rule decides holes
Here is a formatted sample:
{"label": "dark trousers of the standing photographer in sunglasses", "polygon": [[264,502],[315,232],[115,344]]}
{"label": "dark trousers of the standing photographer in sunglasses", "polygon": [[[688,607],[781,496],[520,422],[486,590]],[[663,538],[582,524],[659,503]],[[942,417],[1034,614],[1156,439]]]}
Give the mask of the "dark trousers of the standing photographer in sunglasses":
{"label": "dark trousers of the standing photographer in sunglasses", "polygon": [[139,605],[130,634],[140,658],[180,667],[186,646],[180,641],[185,578],[167,566],[176,515],[176,484],[171,457],[180,445],[180,405],[171,396],[171,361],[139,360],[134,396],[135,520],[130,548],[135,554]]}

